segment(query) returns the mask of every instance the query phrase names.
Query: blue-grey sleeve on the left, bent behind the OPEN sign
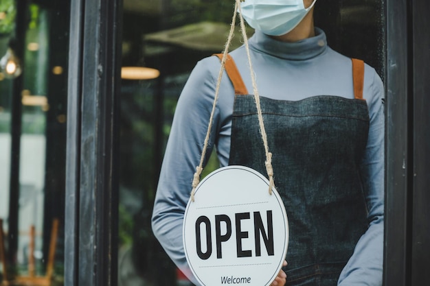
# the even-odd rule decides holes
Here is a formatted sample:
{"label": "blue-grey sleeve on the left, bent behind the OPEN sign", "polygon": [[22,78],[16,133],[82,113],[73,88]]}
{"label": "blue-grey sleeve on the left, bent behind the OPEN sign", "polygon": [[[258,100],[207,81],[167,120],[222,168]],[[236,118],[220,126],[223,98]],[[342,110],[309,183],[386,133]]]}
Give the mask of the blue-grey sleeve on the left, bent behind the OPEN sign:
{"label": "blue-grey sleeve on the left, bent behind the OPEN sign", "polygon": [[[194,171],[201,158],[214,93],[212,74],[204,64],[197,64],[179,97],[152,213],[152,231],[161,246],[177,267],[197,285],[183,250],[183,213],[190,198]],[[207,154],[211,154],[220,133],[217,108]],[[220,160],[225,164],[225,159]]]}

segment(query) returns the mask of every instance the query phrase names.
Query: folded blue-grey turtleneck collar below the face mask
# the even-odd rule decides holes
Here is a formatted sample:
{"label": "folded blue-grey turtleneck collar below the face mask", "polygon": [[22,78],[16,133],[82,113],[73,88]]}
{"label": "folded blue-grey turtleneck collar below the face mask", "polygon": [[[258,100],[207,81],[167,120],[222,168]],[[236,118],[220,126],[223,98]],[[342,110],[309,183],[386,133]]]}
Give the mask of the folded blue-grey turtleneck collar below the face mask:
{"label": "folded blue-grey turtleneck collar below the face mask", "polygon": [[327,39],[324,31],[317,27],[315,27],[315,36],[293,43],[275,40],[256,30],[249,38],[249,47],[285,60],[308,60],[326,51]]}

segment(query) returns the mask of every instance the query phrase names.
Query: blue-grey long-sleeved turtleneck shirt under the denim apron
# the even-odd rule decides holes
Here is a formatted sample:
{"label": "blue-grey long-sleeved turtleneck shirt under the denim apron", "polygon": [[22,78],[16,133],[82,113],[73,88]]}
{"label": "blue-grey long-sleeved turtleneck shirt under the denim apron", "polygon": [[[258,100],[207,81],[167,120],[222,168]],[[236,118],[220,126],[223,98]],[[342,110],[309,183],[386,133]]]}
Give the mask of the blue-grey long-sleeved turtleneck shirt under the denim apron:
{"label": "blue-grey long-sleeved turtleneck shirt under the denim apron", "polygon": [[[321,29],[316,28],[315,34],[315,37],[295,43],[281,42],[259,31],[249,38],[260,96],[282,100],[300,100],[316,95],[354,98],[350,58],[330,49]],[[245,47],[239,47],[230,54],[251,93],[253,88]],[[197,285],[183,250],[183,214],[203,150],[219,70],[218,58],[204,58],[196,64],[183,88],[174,114],[152,214],[152,230],[157,239],[179,269]],[[344,267],[339,285],[382,285],[384,89],[381,78],[367,64],[363,97],[370,115],[364,158],[367,171],[362,174],[367,188],[369,226]],[[221,166],[228,165],[229,161],[233,103],[234,89],[224,73],[207,150],[210,154],[216,147]]]}

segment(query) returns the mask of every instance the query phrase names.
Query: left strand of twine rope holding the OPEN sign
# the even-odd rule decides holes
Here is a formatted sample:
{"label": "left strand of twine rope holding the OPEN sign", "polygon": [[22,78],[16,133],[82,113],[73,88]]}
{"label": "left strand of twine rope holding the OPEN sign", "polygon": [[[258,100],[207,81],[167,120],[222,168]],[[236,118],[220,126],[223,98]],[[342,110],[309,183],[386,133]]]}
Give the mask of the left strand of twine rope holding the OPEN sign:
{"label": "left strand of twine rope holding the OPEN sign", "polygon": [[233,35],[234,35],[234,27],[236,26],[236,11],[238,10],[239,5],[240,5],[239,1],[240,0],[236,1],[235,7],[234,7],[234,14],[233,14],[233,19],[231,19],[230,32],[229,32],[229,36],[227,38],[227,43],[225,43],[225,49],[223,51],[223,59],[221,60],[221,68],[220,68],[220,71],[218,73],[218,82],[216,82],[214,104],[212,105],[212,112],[211,112],[209,123],[208,123],[208,126],[207,126],[207,132],[206,132],[206,136],[205,136],[205,143],[203,144],[203,150],[201,152],[201,157],[200,157],[200,164],[199,164],[199,166],[196,167],[196,172],[194,173],[194,177],[193,177],[193,180],[192,180],[192,191],[190,193],[191,201],[192,202],[194,202],[194,193],[196,191],[197,185],[200,182],[201,172],[203,171],[203,161],[205,159],[207,145],[209,143],[210,132],[211,132],[211,129],[212,129],[212,123],[214,121],[214,114],[215,114],[215,110],[216,110],[216,102],[218,101],[218,94],[219,94],[221,79],[223,78],[223,72],[225,70],[225,60],[227,59],[227,53],[229,52],[229,47],[230,47],[231,39],[233,38]]}

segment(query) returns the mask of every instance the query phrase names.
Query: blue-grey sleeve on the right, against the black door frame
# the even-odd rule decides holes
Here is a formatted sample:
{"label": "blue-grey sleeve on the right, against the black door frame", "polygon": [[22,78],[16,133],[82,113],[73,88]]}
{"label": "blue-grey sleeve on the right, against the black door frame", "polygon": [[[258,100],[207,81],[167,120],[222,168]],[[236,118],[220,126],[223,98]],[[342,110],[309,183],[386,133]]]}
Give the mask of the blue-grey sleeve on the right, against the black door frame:
{"label": "blue-grey sleeve on the right, against the black door frame", "polygon": [[370,109],[370,130],[361,165],[369,226],[339,277],[339,286],[381,286],[384,237],[384,138],[383,84],[374,73]]}

